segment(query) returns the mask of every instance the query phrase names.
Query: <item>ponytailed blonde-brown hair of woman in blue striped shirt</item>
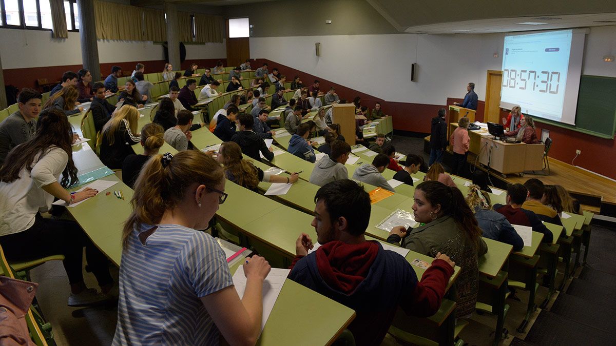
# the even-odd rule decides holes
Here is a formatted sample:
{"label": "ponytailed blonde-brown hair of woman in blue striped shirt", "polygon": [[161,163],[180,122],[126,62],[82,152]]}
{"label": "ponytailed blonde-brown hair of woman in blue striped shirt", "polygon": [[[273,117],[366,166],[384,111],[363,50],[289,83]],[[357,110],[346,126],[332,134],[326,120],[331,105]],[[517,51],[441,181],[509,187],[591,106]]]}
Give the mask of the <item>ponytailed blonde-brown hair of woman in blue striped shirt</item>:
{"label": "ponytailed blonde-brown hair of woman in blue striped shirt", "polygon": [[137,177],[131,199],[132,212],[122,230],[124,249],[135,227],[158,224],[164,211],[180,204],[190,185],[200,183],[214,187],[224,179],[221,166],[202,151],[180,151],[165,167],[162,157],[152,156]]}

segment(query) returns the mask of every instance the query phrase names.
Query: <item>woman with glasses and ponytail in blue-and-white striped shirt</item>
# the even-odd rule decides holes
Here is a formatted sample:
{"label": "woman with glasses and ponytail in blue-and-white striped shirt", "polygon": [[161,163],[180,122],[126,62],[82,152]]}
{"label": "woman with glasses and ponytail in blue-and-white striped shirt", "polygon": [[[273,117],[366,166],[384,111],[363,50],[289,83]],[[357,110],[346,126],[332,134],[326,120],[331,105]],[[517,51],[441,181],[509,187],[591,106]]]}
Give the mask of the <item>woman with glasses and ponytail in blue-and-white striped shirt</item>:
{"label": "woman with glasses and ponytail in blue-and-white striped shirt", "polygon": [[227,198],[224,172],[198,150],[153,156],[124,223],[113,345],[254,345],[270,265],[246,260],[243,299],[222,248],[203,230]]}

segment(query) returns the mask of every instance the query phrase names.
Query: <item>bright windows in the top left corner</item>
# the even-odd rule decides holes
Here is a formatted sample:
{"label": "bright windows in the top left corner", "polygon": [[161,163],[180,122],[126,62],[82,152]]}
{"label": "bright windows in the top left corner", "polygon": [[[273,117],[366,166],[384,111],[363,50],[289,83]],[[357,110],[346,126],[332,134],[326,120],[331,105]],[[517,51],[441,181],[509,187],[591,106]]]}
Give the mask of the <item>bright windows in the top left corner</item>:
{"label": "bright windows in the top left corner", "polygon": [[[79,30],[76,0],[64,0],[67,29]],[[0,0],[0,26],[22,29],[52,29],[49,0]]]}

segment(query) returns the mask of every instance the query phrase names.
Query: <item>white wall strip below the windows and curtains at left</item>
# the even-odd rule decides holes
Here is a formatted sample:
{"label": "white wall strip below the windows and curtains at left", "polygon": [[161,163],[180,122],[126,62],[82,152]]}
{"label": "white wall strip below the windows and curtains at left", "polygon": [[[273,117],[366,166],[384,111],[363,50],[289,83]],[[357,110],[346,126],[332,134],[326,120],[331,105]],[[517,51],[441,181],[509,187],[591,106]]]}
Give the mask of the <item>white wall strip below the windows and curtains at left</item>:
{"label": "white wall strip below the windows and curtains at left", "polygon": [[[99,40],[100,63],[147,62],[163,60],[163,46],[151,41]],[[225,58],[226,44],[187,44],[187,59]],[[2,68],[81,65],[79,33],[68,33],[67,39],[54,39],[51,31],[0,29]],[[157,67],[155,70],[159,70]],[[163,66],[160,66],[163,70]]]}

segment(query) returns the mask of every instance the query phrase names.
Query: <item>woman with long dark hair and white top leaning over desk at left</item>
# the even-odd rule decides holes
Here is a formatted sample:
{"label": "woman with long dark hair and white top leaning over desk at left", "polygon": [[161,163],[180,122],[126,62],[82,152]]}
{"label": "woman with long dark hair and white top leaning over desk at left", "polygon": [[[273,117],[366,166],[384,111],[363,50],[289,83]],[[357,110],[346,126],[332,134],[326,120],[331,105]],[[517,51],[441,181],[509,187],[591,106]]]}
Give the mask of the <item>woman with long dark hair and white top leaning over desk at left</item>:
{"label": "woman with long dark hair and white top leaning over desk at left", "polygon": [[72,204],[98,192],[91,188],[75,193],[66,190],[78,181],[72,142],[68,118],[49,108],[41,112],[34,137],[10,151],[6,161],[11,164],[0,169],[0,244],[10,262],[64,255],[62,262],[71,286],[68,305],[77,307],[110,299],[84,283],[84,247],[87,265],[104,294],[113,287],[113,279],[107,257],[76,222],[41,216],[51,209],[54,198]]}

